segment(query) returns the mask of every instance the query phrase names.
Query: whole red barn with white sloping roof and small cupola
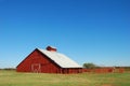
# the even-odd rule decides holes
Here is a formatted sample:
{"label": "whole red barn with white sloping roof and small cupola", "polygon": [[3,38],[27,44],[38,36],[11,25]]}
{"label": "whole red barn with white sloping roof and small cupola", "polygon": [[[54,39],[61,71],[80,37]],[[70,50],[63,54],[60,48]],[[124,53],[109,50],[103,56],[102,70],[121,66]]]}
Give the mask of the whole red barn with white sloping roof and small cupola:
{"label": "whole red barn with white sloping roof and small cupola", "polygon": [[57,53],[56,48],[48,46],[47,49],[36,48],[17,67],[17,72],[39,73],[81,73],[82,67]]}

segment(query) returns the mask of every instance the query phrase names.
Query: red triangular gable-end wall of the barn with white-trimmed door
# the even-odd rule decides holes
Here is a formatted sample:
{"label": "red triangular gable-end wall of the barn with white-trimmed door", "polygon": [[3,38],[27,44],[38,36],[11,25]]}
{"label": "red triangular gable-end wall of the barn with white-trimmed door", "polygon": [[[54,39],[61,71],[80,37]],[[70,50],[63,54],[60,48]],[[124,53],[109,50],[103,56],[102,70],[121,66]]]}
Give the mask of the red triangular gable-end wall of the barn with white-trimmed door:
{"label": "red triangular gable-end wall of the barn with white-trimmed door", "polygon": [[60,67],[38,51],[34,51],[16,69],[17,72],[43,73],[60,73]]}

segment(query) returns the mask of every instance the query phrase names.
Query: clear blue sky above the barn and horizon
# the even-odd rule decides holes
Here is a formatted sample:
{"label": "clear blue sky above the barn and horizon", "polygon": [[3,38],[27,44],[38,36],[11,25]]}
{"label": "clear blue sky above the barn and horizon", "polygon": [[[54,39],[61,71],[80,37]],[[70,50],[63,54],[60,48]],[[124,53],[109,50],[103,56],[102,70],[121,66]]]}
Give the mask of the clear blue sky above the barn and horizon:
{"label": "clear blue sky above the barn and horizon", "polygon": [[0,68],[48,45],[79,64],[130,66],[130,0],[0,0]]}

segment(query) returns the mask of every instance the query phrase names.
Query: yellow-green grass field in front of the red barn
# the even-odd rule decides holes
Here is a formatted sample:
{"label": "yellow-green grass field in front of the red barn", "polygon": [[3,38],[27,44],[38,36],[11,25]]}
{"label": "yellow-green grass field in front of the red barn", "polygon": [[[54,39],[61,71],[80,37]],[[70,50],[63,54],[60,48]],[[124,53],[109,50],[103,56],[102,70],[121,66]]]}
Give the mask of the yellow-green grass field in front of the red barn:
{"label": "yellow-green grass field in front of the red barn", "polygon": [[130,73],[46,74],[0,71],[0,86],[130,86]]}

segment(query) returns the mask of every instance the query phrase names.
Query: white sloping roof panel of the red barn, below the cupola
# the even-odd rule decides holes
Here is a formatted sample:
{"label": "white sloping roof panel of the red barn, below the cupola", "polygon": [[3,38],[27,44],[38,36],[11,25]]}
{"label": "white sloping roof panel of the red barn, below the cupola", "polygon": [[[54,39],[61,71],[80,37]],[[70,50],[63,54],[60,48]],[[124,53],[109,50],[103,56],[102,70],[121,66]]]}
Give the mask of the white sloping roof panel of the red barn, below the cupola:
{"label": "white sloping roof panel of the red barn, below the cupola", "polygon": [[40,48],[38,49],[62,68],[81,68],[81,66],[79,66],[77,62],[61,53]]}

